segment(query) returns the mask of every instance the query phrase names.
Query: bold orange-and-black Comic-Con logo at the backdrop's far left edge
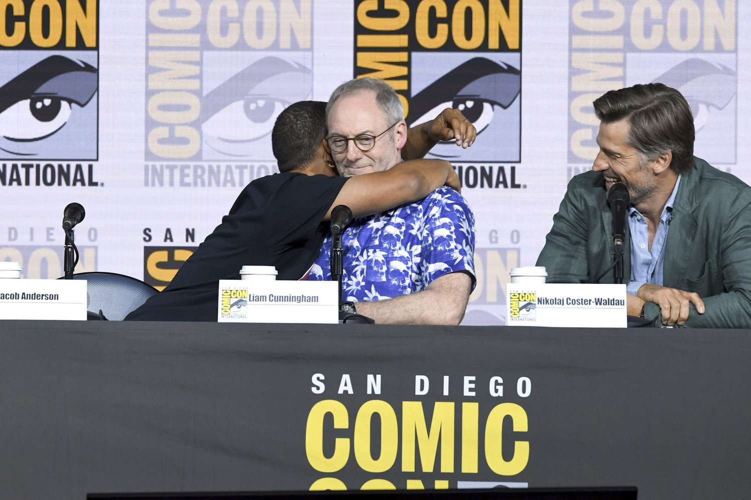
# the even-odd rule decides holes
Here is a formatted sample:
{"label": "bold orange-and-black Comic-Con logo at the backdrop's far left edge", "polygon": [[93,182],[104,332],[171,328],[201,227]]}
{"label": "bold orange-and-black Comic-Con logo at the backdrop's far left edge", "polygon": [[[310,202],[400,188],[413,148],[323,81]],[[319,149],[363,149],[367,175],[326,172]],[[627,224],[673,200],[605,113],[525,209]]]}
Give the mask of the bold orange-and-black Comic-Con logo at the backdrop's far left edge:
{"label": "bold orange-and-black Comic-Con logo at the backdrop's far left edge", "polygon": [[[0,2],[0,184],[97,186],[98,1]],[[77,163],[78,162],[78,163]]]}

